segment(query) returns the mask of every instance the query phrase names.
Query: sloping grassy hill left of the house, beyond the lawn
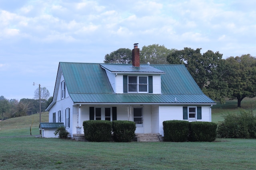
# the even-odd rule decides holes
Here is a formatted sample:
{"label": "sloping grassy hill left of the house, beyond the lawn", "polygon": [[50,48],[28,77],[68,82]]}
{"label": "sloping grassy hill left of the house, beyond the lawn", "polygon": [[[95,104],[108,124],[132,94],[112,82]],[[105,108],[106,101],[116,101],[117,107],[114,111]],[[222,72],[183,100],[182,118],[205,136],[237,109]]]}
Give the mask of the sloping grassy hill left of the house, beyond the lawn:
{"label": "sloping grassy hill left of the house, beyond the lawn", "polygon": [[[22,117],[14,117],[0,121],[0,137],[30,135],[30,126],[32,135],[39,135],[39,114],[33,114]],[[49,121],[49,113],[41,113],[41,121]]]}

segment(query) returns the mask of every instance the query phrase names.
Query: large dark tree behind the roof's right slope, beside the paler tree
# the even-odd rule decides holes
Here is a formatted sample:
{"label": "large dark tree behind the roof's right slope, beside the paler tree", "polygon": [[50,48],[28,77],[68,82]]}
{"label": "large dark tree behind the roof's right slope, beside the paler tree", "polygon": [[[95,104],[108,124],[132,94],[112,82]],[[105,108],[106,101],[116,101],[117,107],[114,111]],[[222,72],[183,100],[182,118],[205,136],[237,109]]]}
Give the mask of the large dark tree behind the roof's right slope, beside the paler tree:
{"label": "large dark tree behind the roof's right slope, beside the paler tree", "polygon": [[167,57],[169,64],[184,63],[198,86],[202,89],[210,80],[210,75],[222,59],[218,51],[206,51],[201,54],[201,48],[196,50],[185,47],[183,50],[173,50]]}

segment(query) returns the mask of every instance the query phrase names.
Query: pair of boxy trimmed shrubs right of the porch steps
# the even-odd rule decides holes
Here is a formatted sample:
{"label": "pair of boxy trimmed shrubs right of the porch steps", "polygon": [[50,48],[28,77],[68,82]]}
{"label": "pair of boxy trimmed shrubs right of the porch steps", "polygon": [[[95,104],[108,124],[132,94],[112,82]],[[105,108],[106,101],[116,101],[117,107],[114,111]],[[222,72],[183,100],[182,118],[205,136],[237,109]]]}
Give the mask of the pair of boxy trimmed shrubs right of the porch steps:
{"label": "pair of boxy trimmed shrubs right of the porch steps", "polygon": [[204,121],[170,120],[163,122],[164,141],[207,141],[216,139],[217,124]]}

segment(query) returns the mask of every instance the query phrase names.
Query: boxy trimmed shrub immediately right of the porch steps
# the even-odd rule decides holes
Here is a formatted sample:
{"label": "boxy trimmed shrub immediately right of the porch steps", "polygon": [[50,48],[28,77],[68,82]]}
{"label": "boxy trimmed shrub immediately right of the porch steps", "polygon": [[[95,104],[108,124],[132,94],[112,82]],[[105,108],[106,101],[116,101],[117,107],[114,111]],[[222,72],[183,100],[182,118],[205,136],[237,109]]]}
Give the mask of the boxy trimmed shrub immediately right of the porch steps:
{"label": "boxy trimmed shrub immediately right of the porch steps", "polygon": [[188,139],[189,122],[169,120],[163,122],[164,141],[186,142]]}

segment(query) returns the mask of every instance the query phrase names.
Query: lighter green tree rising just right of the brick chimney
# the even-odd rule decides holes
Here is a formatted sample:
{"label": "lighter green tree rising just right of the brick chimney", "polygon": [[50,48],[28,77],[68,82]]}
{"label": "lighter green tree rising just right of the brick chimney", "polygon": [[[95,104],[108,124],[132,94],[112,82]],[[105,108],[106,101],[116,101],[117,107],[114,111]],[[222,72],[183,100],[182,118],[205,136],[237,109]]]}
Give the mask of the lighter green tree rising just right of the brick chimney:
{"label": "lighter green tree rising just right of the brick chimney", "polygon": [[140,63],[146,64],[168,64],[167,56],[172,50],[167,49],[164,45],[148,45],[143,46],[140,51]]}

